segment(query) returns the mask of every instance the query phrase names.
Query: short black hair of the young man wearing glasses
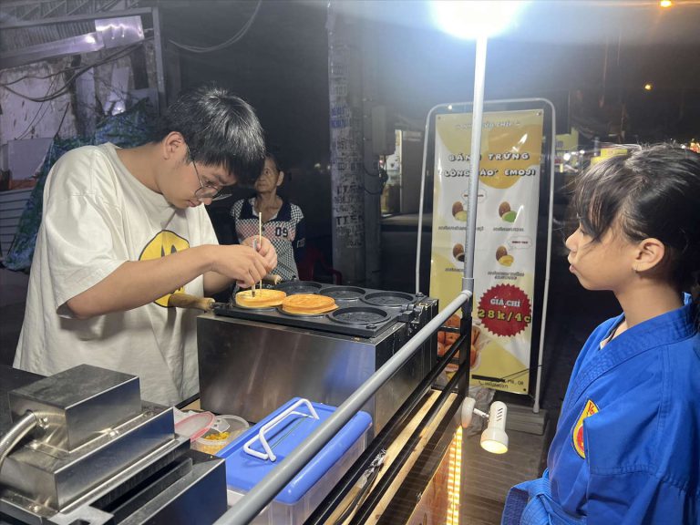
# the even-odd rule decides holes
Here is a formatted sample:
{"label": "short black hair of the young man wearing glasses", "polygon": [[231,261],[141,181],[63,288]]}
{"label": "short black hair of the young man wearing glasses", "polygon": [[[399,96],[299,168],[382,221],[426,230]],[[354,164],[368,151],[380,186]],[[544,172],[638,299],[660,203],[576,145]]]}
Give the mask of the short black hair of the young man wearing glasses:
{"label": "short black hair of the young man wearing glasses", "polygon": [[262,126],[253,108],[228,90],[208,84],[183,93],[161,115],[153,141],[178,131],[190,161],[222,166],[252,186],[265,161]]}

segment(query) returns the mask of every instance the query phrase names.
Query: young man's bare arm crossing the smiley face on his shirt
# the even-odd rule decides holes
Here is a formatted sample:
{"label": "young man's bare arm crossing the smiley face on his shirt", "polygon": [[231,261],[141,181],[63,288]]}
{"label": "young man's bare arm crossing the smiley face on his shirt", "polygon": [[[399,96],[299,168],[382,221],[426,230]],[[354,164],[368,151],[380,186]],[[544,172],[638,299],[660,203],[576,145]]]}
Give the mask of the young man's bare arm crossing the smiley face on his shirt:
{"label": "young man's bare arm crossing the smiley face on his shirt", "polygon": [[[274,252],[274,249],[273,249]],[[196,246],[149,261],[128,261],[105,279],[78,293],[67,306],[78,318],[87,319],[110,312],[122,312],[149,304],[166,293],[177,290],[205,274],[205,290],[209,291],[212,273],[218,282],[237,281],[252,286],[271,271],[271,260],[248,246]],[[208,279],[207,276],[210,276]],[[225,286],[225,284],[224,284]]]}

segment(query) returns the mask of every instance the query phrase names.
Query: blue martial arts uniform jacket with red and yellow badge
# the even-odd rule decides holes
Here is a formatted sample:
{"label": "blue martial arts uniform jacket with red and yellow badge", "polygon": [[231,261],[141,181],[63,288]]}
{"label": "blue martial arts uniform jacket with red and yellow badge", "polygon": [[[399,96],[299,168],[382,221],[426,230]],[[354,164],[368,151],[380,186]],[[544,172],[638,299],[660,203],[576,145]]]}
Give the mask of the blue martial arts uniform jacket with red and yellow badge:
{"label": "blue martial arts uniform jacket with red and yellow badge", "polygon": [[598,326],[574,365],[548,457],[547,506],[591,525],[700,523],[695,308],[633,326],[601,348],[622,321]]}

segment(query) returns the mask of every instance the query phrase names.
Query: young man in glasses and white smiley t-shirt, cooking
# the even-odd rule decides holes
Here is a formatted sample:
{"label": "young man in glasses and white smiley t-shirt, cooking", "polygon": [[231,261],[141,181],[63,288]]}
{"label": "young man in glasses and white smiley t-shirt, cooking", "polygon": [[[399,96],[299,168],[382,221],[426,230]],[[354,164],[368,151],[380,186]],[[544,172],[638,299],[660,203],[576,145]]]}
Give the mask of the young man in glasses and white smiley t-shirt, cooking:
{"label": "young man in glasses and white smiley t-shirt, cooking", "polygon": [[87,363],[139,376],[173,405],[199,390],[196,313],[171,293],[251,286],[272,244],[219,245],[201,204],[262,170],[260,122],[241,98],[197,88],[167,109],[153,141],[67,152],[46,180],[15,367],[51,375]]}

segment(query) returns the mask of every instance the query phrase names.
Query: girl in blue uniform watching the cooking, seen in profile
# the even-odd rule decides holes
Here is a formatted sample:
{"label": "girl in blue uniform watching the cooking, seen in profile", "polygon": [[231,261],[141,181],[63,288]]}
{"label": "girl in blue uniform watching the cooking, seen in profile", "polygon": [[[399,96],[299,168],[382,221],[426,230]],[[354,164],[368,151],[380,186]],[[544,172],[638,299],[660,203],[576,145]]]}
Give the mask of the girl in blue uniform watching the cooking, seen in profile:
{"label": "girl in blue uniform watching the cooking, seen in profile", "polygon": [[635,148],[579,182],[570,270],[623,314],[583,346],[548,469],[502,523],[700,523],[700,155]]}

